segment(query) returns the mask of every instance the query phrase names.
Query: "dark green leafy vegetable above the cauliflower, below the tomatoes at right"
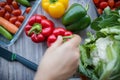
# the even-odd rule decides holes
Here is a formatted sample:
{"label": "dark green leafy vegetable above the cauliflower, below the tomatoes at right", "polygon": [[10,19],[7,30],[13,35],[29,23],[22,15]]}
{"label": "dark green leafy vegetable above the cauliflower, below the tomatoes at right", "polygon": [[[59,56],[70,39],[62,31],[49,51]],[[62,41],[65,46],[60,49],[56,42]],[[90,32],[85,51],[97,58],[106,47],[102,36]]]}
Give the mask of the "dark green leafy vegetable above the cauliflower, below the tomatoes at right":
{"label": "dark green leafy vegetable above the cauliflower, below the tomatoes at right", "polygon": [[99,31],[102,28],[117,25],[120,25],[120,10],[111,11],[109,7],[107,7],[104,13],[92,22],[91,28]]}

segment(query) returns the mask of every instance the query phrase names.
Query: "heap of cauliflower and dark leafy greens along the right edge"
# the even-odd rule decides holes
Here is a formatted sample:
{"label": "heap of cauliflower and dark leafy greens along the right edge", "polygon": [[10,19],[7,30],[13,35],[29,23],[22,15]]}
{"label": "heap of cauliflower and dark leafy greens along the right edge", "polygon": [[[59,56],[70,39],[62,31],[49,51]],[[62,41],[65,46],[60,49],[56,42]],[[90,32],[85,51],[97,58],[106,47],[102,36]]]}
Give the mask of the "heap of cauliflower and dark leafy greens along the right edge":
{"label": "heap of cauliflower and dark leafy greens along the right edge", "polygon": [[111,11],[110,8],[106,8],[92,23],[96,35],[88,33],[89,38],[80,46],[79,70],[91,80],[120,79],[119,19],[120,10]]}

